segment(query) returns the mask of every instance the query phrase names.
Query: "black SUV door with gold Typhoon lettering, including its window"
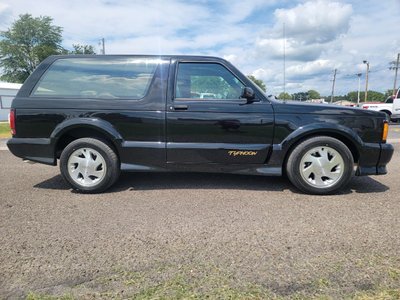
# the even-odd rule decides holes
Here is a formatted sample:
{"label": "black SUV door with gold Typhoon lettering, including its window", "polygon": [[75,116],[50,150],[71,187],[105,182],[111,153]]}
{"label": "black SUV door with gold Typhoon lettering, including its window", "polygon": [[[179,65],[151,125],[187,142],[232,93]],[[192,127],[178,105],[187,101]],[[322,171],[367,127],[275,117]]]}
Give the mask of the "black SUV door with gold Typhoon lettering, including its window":
{"label": "black SUV door with gold Typhoon lettering, including its window", "polygon": [[241,98],[243,75],[221,62],[176,61],[167,105],[168,164],[263,164],[273,110]]}

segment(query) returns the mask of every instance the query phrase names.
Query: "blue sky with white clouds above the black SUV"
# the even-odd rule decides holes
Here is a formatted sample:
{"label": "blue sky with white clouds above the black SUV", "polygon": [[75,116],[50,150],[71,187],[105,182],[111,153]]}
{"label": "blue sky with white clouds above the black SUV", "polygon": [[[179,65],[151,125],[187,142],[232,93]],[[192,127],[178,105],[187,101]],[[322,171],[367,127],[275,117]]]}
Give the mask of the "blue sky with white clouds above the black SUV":
{"label": "blue sky with white clouds above the black SUV", "polygon": [[334,69],[335,95],[356,91],[358,73],[364,90],[364,60],[369,90],[385,92],[400,52],[400,0],[0,0],[0,31],[25,13],[52,17],[67,49],[100,53],[104,38],[106,54],[219,56],[272,95],[329,96]]}

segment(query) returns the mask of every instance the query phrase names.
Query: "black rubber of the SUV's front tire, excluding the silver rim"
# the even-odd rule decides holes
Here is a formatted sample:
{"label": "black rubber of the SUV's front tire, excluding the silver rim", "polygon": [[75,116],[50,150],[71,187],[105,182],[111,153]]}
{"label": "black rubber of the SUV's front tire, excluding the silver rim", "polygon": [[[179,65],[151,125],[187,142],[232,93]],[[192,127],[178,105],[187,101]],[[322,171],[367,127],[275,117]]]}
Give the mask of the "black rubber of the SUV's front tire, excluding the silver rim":
{"label": "black rubber of the SUV's front tire, excluding the silver rim", "polygon": [[[318,188],[310,185],[300,174],[301,160],[304,155],[315,147],[330,147],[336,150],[344,161],[344,172],[341,178],[331,186]],[[347,146],[341,141],[331,137],[313,137],[298,144],[290,153],[286,165],[286,172],[289,180],[301,191],[308,194],[332,194],[343,189],[350,181],[353,175],[353,156]]]}

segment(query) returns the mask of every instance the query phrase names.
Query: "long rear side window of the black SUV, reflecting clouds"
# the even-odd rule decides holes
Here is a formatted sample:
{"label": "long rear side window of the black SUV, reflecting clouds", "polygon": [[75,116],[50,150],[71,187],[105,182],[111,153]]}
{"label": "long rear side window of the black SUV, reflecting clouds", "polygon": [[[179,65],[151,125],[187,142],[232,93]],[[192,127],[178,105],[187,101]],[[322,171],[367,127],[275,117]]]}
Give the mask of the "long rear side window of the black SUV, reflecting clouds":
{"label": "long rear side window of the black SUV, reflecting clouds", "polygon": [[143,98],[159,60],[68,58],[56,60],[32,96],[51,98]]}

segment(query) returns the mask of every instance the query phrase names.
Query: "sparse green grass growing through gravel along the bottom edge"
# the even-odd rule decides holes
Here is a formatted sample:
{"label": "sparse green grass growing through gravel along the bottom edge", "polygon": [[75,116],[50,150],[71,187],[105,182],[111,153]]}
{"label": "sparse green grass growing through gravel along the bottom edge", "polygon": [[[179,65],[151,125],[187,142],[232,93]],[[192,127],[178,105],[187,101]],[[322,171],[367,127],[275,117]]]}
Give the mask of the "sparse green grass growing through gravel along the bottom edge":
{"label": "sparse green grass growing through gravel along the bottom edge", "polygon": [[[266,282],[249,282],[214,265],[159,265],[140,271],[115,269],[64,290],[62,295],[30,292],[27,300],[74,299],[273,299],[273,300],[398,300],[398,269],[389,268],[388,282],[376,282],[368,288],[358,287],[344,292],[325,277],[305,280],[303,289],[286,292],[271,290]],[[311,279],[311,278],[310,278]],[[296,282],[300,284],[300,282]]]}

